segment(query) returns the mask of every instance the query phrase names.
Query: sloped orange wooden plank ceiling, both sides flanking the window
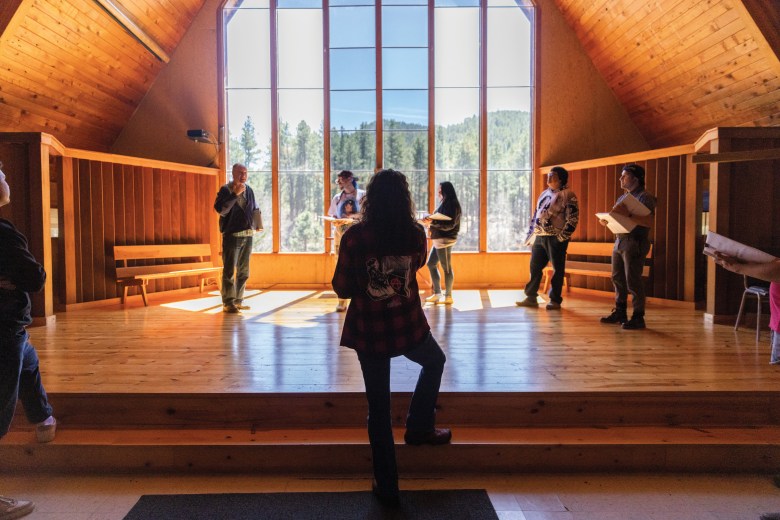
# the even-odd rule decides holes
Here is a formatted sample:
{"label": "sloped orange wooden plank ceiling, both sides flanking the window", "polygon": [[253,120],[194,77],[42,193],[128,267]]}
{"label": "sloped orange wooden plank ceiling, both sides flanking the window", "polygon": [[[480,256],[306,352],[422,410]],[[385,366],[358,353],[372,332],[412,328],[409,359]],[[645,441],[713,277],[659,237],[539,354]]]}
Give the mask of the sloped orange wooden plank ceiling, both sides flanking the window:
{"label": "sloped orange wooden plank ceiling, both sides flanking the window", "polygon": [[[552,0],[653,147],[780,125],[777,0]],[[204,0],[113,0],[169,55]],[[94,0],[0,0],[0,131],[106,151],[165,64]]]}

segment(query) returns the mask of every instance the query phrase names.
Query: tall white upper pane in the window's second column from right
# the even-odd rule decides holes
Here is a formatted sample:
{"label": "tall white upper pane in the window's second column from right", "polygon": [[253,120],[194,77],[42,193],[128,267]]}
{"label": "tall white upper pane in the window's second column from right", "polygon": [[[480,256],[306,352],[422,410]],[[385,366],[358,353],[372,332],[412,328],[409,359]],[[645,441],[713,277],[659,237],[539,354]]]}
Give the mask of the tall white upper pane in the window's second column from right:
{"label": "tall white upper pane in the window's second column from right", "polygon": [[437,87],[479,87],[479,9],[436,9]]}

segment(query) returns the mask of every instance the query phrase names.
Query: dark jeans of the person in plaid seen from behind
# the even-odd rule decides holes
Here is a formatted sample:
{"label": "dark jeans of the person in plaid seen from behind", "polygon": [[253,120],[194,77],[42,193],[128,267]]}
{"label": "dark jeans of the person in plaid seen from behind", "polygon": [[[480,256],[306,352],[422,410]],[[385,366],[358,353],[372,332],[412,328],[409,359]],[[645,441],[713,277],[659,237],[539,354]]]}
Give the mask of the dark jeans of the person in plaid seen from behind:
{"label": "dark jeans of the person in plaid seen from behind", "polygon": [[[404,354],[422,366],[417,386],[409,404],[406,429],[428,432],[436,424],[436,400],[439,397],[444,356],[441,347],[429,333],[422,343]],[[393,420],[390,408],[390,358],[373,357],[358,352],[368,400],[368,440],[374,460],[374,479],[384,493],[398,492],[398,466],[395,461]]]}

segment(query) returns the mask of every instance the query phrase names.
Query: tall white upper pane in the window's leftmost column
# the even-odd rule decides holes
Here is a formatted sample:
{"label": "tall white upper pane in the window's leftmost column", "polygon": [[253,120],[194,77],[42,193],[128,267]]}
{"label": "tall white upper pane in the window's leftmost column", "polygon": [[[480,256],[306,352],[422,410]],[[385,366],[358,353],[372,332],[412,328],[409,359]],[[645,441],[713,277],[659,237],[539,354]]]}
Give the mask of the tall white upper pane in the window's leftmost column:
{"label": "tall white upper pane in the window's leftmost column", "polygon": [[271,87],[267,9],[225,11],[225,74],[228,88]]}

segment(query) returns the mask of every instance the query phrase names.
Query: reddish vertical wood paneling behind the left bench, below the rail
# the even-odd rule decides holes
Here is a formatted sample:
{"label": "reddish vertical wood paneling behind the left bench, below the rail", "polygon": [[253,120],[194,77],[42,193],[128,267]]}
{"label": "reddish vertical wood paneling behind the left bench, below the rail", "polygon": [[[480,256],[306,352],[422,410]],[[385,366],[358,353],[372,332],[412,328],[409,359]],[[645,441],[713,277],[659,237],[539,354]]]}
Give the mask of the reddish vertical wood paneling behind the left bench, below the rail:
{"label": "reddish vertical wood paneling behind the left bench, below the rail", "polygon": [[[63,160],[72,161],[63,168],[63,178],[72,175],[72,181],[61,184],[61,200],[71,198],[73,221],[61,219],[60,236],[73,246],[73,254],[66,253],[65,262],[73,262],[75,271],[73,287],[65,289],[66,303],[121,295],[116,284],[115,245],[212,241],[214,175],[89,159]],[[216,255],[217,249],[213,250]],[[197,285],[192,277],[167,279],[151,282],[148,290]]]}

